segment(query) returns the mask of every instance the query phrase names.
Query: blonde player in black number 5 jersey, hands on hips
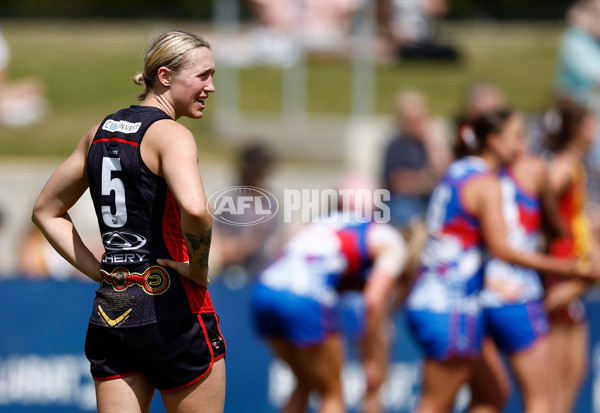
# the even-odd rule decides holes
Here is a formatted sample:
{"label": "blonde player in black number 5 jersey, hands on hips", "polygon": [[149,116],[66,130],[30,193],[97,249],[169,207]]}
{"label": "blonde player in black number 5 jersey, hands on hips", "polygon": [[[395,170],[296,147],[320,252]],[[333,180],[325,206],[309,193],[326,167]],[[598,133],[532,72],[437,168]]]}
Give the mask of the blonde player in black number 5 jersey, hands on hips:
{"label": "blonde player in black number 5 jersey, hands on hips", "polygon": [[[109,115],[50,177],[33,219],[57,251],[98,281],[85,352],[99,412],[219,413],[225,343],[208,284],[211,217],[190,131],[215,90],[210,46],[166,32],[151,44],[140,105]],[[68,210],[89,187],[105,254],[82,242]],[[170,268],[169,268],[170,267]]]}

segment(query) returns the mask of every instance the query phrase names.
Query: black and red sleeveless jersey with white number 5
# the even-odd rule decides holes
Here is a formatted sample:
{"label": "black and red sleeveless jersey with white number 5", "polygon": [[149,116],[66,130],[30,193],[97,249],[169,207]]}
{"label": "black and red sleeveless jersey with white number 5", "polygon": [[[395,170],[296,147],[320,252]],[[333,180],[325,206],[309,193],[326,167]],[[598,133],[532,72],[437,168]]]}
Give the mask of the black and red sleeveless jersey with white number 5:
{"label": "black and red sleeveless jersey with white number 5", "polygon": [[144,134],[161,119],[170,118],[155,107],[123,109],[104,119],[90,146],[90,193],[105,249],[92,324],[133,327],[214,312],[206,287],[156,263],[188,259],[179,206],[140,155]]}

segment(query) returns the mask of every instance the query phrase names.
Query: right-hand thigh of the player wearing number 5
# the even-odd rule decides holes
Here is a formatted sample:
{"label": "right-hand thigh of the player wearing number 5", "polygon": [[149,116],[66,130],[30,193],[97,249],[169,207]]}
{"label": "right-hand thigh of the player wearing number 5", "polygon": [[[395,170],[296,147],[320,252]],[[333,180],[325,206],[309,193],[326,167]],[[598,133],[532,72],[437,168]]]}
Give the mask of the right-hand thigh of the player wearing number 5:
{"label": "right-hand thigh of the player wearing number 5", "polygon": [[222,413],[225,406],[225,360],[216,361],[208,375],[189,387],[162,392],[168,413]]}

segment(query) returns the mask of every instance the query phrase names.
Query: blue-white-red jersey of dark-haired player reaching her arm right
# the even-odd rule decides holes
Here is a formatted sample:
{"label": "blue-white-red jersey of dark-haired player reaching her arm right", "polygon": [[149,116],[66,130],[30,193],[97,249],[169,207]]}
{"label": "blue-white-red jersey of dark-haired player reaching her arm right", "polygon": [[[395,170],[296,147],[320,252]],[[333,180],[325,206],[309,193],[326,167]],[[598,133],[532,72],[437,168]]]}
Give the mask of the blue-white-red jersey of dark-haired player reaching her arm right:
{"label": "blue-white-red jersey of dark-haired player reaching her arm right", "polygon": [[465,210],[463,187],[489,174],[485,161],[455,161],[435,188],[426,215],[429,238],[421,254],[410,310],[434,313],[479,311],[483,283],[483,245],[478,220]]}

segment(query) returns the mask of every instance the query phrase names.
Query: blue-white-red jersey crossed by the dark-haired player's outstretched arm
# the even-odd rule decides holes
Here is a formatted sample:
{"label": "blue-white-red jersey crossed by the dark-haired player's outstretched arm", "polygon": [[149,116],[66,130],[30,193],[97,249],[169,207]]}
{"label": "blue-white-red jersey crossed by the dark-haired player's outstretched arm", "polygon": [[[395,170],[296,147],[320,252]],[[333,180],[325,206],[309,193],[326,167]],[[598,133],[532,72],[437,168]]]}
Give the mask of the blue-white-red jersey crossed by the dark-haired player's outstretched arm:
{"label": "blue-white-red jersey crossed by the dark-haired player's outstretched arm", "polygon": [[[539,198],[520,187],[510,169],[499,173],[502,188],[502,212],[506,222],[508,245],[521,251],[537,250],[541,219]],[[543,287],[536,271],[491,258],[485,268],[482,304],[500,307],[539,300]]]}

